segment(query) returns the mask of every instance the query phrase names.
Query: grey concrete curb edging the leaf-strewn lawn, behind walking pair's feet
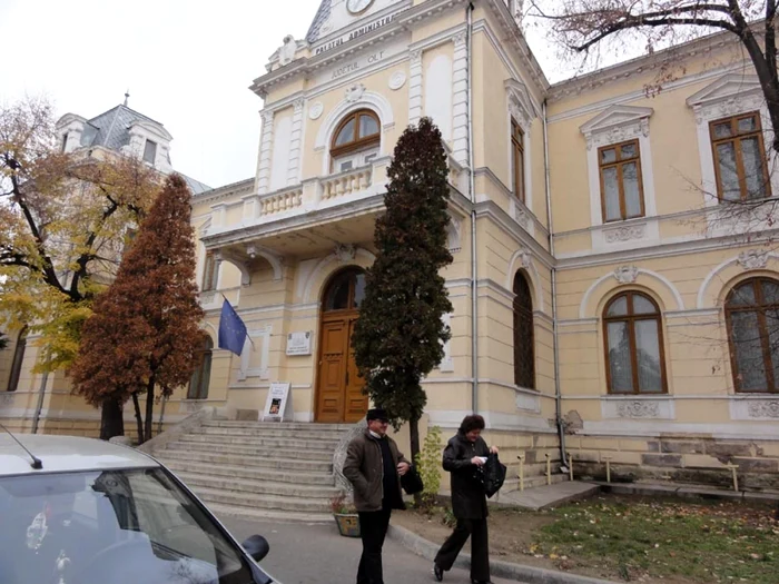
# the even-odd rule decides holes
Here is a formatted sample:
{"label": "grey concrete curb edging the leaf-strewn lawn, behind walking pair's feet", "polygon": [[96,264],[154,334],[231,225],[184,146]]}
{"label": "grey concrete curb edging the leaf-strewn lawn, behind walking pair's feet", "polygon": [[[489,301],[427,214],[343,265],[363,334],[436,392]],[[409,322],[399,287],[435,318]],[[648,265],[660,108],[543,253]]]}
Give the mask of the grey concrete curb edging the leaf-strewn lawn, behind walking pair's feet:
{"label": "grey concrete curb edging the leaf-strewn lawn, behind walking pair's feet", "polygon": [[[398,525],[389,525],[387,536],[400,543],[410,552],[425,560],[430,560],[431,562],[435,558],[435,554],[440,547],[437,544],[428,542],[424,537]],[[469,570],[471,567],[471,555],[460,554],[454,563],[454,567]],[[511,562],[502,562],[500,560],[490,561],[490,572],[493,576],[515,580],[526,584],[618,584],[610,580],[591,578],[588,576],[569,574],[568,572],[555,572],[541,567],[512,564]]]}

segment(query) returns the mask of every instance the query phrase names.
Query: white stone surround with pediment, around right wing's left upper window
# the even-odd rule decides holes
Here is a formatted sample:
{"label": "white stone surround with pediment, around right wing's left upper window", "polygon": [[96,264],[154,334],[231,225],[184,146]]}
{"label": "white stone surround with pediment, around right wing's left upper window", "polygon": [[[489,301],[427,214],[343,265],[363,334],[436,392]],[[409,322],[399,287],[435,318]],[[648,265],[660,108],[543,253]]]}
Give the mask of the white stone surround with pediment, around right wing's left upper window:
{"label": "white stone surround with pediment, around right wing's left upper window", "polygon": [[[593,249],[632,248],[635,247],[637,241],[643,246],[660,238],[652,170],[652,145],[649,138],[649,118],[653,112],[652,108],[610,106],[579,128],[586,140],[590,222],[592,227],[598,228],[592,231]],[[598,151],[603,147],[635,139],[639,141],[641,160],[644,216],[604,222]]]}

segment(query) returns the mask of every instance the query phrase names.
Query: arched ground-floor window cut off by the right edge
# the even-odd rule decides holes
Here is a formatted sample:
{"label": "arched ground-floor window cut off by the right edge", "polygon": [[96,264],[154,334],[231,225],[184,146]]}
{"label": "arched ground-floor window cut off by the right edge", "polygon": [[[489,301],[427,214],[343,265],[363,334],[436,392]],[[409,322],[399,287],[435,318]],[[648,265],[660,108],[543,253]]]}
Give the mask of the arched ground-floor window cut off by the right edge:
{"label": "arched ground-floor window cut off by the right edge", "polygon": [[779,392],[779,281],[752,278],[724,304],[737,392]]}

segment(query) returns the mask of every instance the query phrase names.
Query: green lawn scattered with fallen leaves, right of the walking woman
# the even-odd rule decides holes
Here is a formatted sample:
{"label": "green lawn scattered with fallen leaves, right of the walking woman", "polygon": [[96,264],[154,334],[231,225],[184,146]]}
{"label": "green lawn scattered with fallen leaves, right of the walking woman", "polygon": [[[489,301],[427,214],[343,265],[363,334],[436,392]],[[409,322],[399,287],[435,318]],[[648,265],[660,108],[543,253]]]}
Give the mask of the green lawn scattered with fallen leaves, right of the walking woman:
{"label": "green lawn scattered with fallen leaves, right of the walking woman", "polygon": [[549,514],[554,521],[534,531],[527,552],[561,567],[598,566],[637,582],[779,582],[770,507],[602,496]]}

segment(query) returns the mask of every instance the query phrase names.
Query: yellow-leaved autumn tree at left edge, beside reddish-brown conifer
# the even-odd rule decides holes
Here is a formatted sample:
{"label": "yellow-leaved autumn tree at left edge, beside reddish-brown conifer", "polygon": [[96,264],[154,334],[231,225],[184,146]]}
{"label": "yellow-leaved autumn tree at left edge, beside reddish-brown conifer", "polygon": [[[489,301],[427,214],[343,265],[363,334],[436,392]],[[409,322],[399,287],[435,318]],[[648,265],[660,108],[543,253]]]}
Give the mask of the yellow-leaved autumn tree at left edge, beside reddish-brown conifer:
{"label": "yellow-leaved autumn tree at left edge, beside reddish-brown conifer", "polygon": [[[62,152],[45,99],[0,105],[0,324],[39,335],[36,370],[72,363],[91,301],[159,182],[136,158]],[[122,432],[121,409],[108,404],[101,436]]]}

